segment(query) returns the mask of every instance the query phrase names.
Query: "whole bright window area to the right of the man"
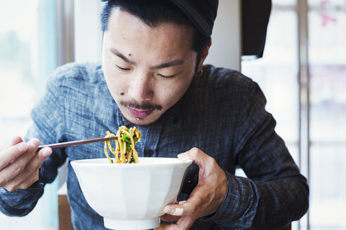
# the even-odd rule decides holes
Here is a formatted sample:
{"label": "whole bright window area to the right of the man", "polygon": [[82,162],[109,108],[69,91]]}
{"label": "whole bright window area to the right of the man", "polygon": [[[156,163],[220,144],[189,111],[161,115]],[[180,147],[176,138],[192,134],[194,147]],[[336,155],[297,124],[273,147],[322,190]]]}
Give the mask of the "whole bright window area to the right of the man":
{"label": "whole bright window area to the right of the man", "polygon": [[309,180],[309,212],[293,229],[346,228],[345,27],[345,0],[274,0],[264,57],[242,62]]}

